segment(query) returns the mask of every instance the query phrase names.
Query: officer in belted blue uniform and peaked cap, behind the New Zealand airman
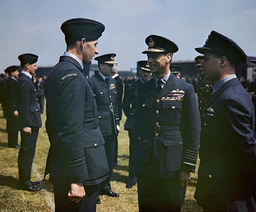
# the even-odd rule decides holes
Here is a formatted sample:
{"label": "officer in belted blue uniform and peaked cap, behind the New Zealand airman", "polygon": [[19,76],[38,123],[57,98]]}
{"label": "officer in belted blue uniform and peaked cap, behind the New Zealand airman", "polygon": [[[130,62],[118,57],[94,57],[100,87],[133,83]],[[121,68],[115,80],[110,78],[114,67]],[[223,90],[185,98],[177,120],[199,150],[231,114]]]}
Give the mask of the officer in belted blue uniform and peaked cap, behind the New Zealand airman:
{"label": "officer in belted blue uniform and peaked cap, behind the New Zealand airman", "polygon": [[[119,117],[117,107],[116,80],[109,77],[109,72],[116,64],[114,61],[116,54],[104,54],[96,57],[98,61],[99,72],[97,72],[88,81],[95,94],[97,108],[99,112],[100,131],[105,140],[105,150],[109,165],[109,176],[100,185],[100,194],[106,194],[111,197],[119,197],[118,193],[111,191],[110,180],[114,167],[114,154],[116,146],[116,137],[119,132]],[[98,199],[98,202],[100,200]]]}

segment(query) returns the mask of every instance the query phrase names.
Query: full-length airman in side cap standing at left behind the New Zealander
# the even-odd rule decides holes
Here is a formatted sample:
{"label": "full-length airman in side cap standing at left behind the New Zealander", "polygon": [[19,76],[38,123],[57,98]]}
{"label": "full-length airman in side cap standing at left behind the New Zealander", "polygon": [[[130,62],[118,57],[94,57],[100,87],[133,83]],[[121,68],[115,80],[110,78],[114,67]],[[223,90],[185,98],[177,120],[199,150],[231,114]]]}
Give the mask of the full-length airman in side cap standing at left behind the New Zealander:
{"label": "full-length airman in side cap standing at left behind the New Zealander", "polygon": [[21,131],[21,148],[18,156],[19,184],[22,189],[39,191],[40,188],[31,182],[31,167],[36,151],[36,141],[39,128],[42,127],[36,87],[32,81],[32,75],[37,69],[38,56],[21,54],[18,59],[22,67],[17,85],[19,130]]}

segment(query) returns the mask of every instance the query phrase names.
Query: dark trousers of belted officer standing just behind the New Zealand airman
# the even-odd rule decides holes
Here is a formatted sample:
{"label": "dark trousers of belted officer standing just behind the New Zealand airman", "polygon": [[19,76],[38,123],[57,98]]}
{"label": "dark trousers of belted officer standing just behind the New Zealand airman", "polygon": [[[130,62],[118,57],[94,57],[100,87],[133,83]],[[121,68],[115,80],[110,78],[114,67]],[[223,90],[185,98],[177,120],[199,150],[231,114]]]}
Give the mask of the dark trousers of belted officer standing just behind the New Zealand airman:
{"label": "dark trousers of belted officer standing just behind the New Zealand airman", "polygon": [[107,155],[107,163],[109,165],[108,178],[100,184],[100,194],[109,193],[111,191],[110,180],[113,174],[114,168],[114,155],[115,155],[115,141],[116,135],[103,136],[105,141],[105,151]]}

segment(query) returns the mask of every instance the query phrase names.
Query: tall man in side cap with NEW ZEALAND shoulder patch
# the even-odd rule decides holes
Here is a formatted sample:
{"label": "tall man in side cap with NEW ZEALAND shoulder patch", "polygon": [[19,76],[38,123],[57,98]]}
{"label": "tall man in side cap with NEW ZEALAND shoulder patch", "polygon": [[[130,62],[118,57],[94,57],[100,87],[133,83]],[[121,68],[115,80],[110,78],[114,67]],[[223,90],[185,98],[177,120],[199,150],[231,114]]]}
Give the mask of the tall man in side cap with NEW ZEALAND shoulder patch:
{"label": "tall man in side cap with NEW ZEALAND shoulder patch", "polygon": [[66,52],[45,84],[50,149],[45,175],[54,186],[55,211],[96,211],[99,184],[108,177],[104,139],[99,129],[95,96],[84,65],[98,54],[97,40],[105,27],[90,19],[70,19],[61,30]]}

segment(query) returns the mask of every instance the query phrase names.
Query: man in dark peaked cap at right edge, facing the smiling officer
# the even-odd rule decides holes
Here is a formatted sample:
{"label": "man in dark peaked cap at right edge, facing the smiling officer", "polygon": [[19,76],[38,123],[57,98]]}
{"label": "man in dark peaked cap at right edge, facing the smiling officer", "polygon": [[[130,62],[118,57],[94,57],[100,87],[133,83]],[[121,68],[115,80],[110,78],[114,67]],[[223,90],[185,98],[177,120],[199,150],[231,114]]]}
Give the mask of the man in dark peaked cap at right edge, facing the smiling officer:
{"label": "man in dark peaked cap at right edge, facing the smiling officer", "polygon": [[254,105],[235,75],[244,51],[230,38],[211,31],[201,68],[213,85],[200,137],[200,165],[194,198],[204,211],[256,211],[251,179],[256,163]]}

